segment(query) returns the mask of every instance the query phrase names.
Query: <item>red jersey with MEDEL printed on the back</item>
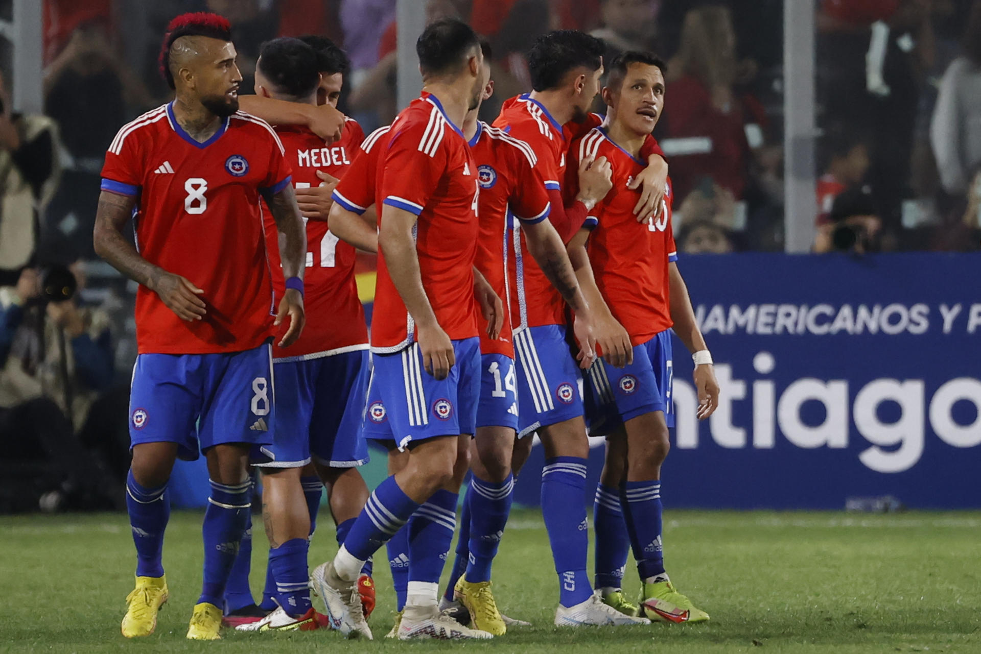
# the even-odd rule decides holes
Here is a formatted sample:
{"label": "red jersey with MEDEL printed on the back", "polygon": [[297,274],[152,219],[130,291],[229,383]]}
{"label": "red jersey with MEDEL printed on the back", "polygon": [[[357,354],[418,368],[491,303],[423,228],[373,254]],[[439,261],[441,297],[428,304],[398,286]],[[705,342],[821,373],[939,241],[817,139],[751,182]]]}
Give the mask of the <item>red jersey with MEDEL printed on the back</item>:
{"label": "red jersey with MEDEL printed on the back", "polygon": [[[310,188],[324,182],[317,176],[322,171],[340,177],[350,167],[364,140],[364,132],[356,121],[344,123],[340,140],[326,145],[324,140],[306,127],[277,126],[285,148],[286,161],[293,169],[293,186]],[[285,279],[280,262],[279,231],[268,211],[264,214],[266,248],[273,270],[273,289],[276,300],[283,297]],[[289,361],[368,349],[368,328],[364,309],[358,299],[354,281],[354,246],[337,238],[327,228],[327,221],[308,221],[306,273],[303,276],[303,307],[306,326],[295,343],[281,348],[274,343],[273,357]],[[288,322],[280,326],[285,333]],[[279,337],[277,338],[279,342]]]}

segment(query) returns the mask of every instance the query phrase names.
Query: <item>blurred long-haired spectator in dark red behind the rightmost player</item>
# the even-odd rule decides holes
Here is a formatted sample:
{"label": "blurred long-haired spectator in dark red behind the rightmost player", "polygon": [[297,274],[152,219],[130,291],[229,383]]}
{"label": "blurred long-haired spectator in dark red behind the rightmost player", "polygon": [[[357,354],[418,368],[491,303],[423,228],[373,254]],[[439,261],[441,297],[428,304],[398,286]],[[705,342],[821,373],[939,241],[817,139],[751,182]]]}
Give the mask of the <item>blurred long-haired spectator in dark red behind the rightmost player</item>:
{"label": "blurred long-haired spectator in dark red behind the rightmost player", "polygon": [[[678,197],[687,196],[701,176],[710,176],[737,199],[744,196],[750,146],[763,144],[765,117],[755,98],[737,87],[753,67],[736,60],[736,45],[727,8],[708,5],[685,17],[681,49],[668,64],[661,121],[668,137],[684,139],[661,139]],[[674,150],[674,144],[684,148]]]}

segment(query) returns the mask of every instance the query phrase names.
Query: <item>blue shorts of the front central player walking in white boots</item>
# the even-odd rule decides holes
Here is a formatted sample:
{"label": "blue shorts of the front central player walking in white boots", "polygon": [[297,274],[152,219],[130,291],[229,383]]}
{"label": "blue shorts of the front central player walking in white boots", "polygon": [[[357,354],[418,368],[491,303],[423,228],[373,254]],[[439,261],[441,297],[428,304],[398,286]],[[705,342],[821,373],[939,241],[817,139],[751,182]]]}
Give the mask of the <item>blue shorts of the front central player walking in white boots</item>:
{"label": "blue shorts of the front central player walking in white boots", "polygon": [[419,343],[395,354],[373,354],[365,438],[409,441],[473,434],[481,392],[480,339],[453,341],[456,364],[437,380],[423,368]]}

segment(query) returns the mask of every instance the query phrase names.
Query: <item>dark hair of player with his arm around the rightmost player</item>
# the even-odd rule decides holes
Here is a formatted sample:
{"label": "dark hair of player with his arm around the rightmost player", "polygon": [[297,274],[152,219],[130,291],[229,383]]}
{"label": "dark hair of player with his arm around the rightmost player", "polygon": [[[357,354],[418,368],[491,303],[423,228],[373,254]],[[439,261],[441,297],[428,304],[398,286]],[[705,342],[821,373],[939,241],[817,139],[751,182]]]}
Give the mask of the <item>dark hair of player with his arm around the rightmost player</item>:
{"label": "dark hair of player with his arm around the rightmost player", "polygon": [[579,67],[591,71],[602,66],[602,39],[578,29],[557,29],[535,39],[528,53],[532,88],[546,91],[562,83],[562,78]]}

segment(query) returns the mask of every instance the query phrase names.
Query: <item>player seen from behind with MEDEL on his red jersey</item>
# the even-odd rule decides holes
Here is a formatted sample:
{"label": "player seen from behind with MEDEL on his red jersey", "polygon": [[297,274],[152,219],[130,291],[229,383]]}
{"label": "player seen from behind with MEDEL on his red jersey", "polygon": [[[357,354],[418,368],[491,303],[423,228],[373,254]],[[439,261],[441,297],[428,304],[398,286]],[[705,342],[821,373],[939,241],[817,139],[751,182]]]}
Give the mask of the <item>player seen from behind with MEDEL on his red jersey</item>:
{"label": "player seen from behind with MEDEL on his red jersey", "polygon": [[[299,39],[264,43],[256,65],[256,94],[312,105],[317,101],[319,68],[317,53]],[[277,133],[298,188],[321,183],[320,168],[339,175],[349,163],[347,151],[353,157],[361,140],[360,128],[345,128],[341,140],[331,147],[305,127],[278,126]],[[268,214],[265,221],[272,249],[278,235]],[[267,580],[266,594],[274,595],[275,610],[262,620],[240,625],[240,630],[317,628],[307,552],[321,484],[311,458],[326,483],[342,486],[332,503],[341,542],[343,528],[350,525],[345,521],[353,521],[368,498],[367,486],[355,468],[368,459],[360,433],[368,333],[354,282],[354,248],[338,242],[323,220],[307,220],[306,232],[311,249],[306,255],[307,328],[289,350],[274,348],[280,415],[273,444],[253,453],[253,465],[263,471],[263,522],[270,541],[268,577],[273,581]],[[274,288],[282,294],[279,263],[274,255]],[[304,471],[307,477],[302,477]]]}

